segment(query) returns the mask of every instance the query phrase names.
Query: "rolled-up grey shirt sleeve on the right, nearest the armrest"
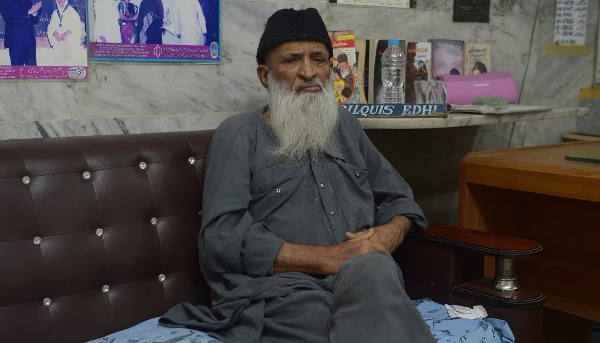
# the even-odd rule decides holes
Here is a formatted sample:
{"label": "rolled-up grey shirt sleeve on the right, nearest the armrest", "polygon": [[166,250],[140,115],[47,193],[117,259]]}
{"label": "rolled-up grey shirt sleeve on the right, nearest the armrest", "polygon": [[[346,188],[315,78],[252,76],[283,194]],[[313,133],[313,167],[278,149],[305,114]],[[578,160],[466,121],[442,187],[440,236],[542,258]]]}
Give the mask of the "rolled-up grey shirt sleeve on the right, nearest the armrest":
{"label": "rolled-up grey shirt sleeve on the right, nearest the armrest", "polygon": [[409,184],[375,148],[358,120],[355,121],[359,146],[367,163],[368,180],[375,200],[374,226],[388,224],[395,216],[402,215],[413,222],[413,231],[427,230],[427,218],[415,202]]}

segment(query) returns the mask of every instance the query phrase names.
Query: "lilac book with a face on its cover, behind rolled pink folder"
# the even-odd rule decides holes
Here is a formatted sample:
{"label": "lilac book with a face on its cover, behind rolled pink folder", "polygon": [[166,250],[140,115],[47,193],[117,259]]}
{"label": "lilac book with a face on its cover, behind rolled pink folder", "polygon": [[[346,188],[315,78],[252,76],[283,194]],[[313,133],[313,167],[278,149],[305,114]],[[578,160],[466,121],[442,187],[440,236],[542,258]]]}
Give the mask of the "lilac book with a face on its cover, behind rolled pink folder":
{"label": "lilac book with a face on its cover, behind rolled pink folder", "polygon": [[430,40],[433,51],[433,77],[464,75],[464,41]]}

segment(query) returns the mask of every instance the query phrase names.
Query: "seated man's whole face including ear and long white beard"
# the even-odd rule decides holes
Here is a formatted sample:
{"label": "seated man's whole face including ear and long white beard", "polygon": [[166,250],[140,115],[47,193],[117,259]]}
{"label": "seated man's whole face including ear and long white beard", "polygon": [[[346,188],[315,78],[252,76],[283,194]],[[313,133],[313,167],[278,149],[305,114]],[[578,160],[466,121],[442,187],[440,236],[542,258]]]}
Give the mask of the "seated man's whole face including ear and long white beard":
{"label": "seated man's whole face including ear and long white beard", "polygon": [[269,91],[265,120],[278,140],[274,160],[293,166],[334,151],[339,107],[325,45],[285,43],[266,57],[257,74]]}

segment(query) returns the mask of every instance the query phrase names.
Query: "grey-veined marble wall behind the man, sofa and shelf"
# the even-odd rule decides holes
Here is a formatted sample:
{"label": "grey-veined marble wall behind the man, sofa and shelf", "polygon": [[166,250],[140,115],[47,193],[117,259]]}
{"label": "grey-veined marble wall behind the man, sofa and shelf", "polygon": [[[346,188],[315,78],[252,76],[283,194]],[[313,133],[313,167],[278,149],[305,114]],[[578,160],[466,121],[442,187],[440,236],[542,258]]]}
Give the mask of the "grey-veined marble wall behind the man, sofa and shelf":
{"label": "grey-veined marble wall behind the man, sofa and shelf", "polygon": [[[200,0],[206,1],[210,0]],[[526,76],[521,103],[581,104],[580,89],[593,83],[594,56],[545,53],[553,41],[556,0],[541,0],[537,22],[538,1],[492,1],[490,24],[453,23],[452,4],[452,0],[418,0],[413,10],[385,10],[328,5],[327,0],[226,0],[221,5],[221,65],[91,62],[86,82],[0,83],[0,139],[215,128],[232,113],[265,104],[267,93],[256,77],[256,49],[268,17],[289,7],[316,7],[328,29],[353,29],[363,39],[490,43],[494,70],[511,70],[520,90]],[[593,51],[597,17],[598,2],[590,1],[587,44]],[[593,102],[589,105],[600,107]],[[397,167],[415,185],[428,215],[452,222],[458,163],[466,152],[557,143],[563,132],[577,131],[577,122],[559,119],[515,127],[500,124],[369,134],[380,144],[404,137],[406,144],[395,144],[388,156],[400,159]],[[600,125],[588,126],[600,134]],[[419,151],[426,151],[427,159],[420,159]]]}

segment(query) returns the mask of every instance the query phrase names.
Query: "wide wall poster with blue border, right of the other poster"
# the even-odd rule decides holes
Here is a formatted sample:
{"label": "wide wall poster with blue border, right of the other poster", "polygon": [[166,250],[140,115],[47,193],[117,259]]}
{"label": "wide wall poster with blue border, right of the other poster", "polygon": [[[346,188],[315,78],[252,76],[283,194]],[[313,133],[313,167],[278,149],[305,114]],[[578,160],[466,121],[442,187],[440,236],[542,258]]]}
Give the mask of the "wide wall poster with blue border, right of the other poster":
{"label": "wide wall poster with blue border, right of the other poster", "polygon": [[92,61],[221,62],[220,0],[89,1]]}

